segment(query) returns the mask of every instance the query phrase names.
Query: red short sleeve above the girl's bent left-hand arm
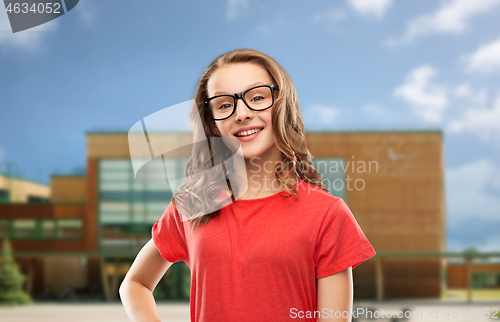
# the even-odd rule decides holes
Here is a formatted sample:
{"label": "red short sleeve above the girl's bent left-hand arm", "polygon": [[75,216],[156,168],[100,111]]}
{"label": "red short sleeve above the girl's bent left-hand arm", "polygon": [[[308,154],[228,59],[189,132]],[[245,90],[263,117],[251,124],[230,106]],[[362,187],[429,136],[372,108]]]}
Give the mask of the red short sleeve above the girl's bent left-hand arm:
{"label": "red short sleeve above the girl's bent left-hand arm", "polygon": [[153,242],[161,256],[171,262],[187,259],[187,243],[184,224],[172,201],[151,229]]}

